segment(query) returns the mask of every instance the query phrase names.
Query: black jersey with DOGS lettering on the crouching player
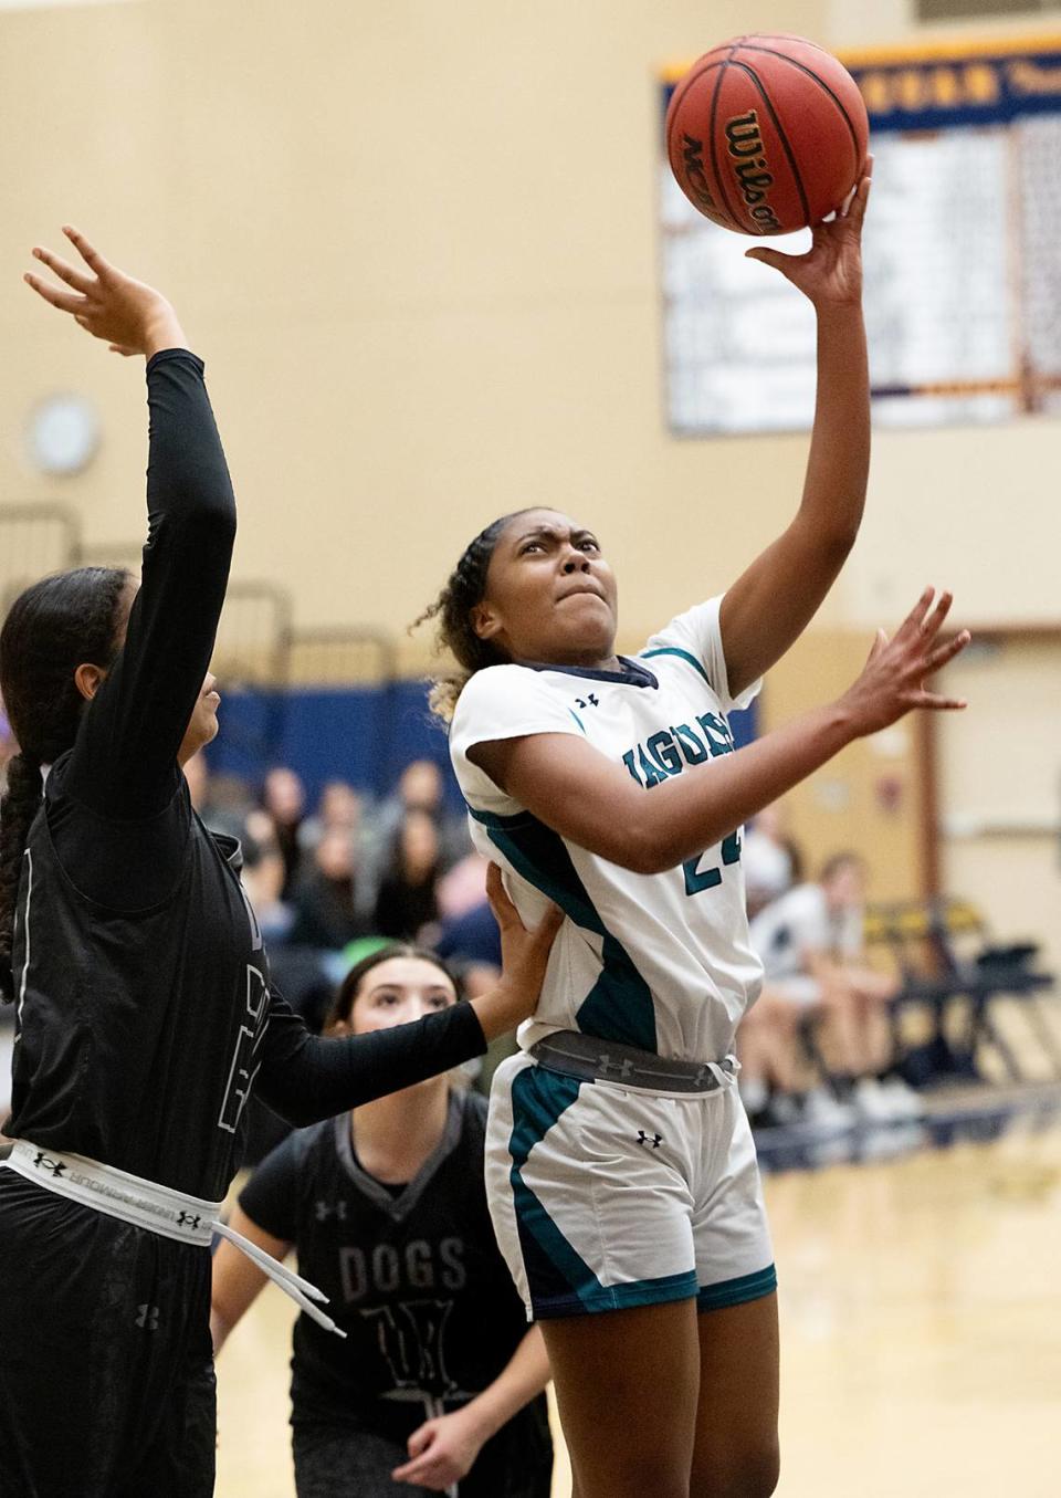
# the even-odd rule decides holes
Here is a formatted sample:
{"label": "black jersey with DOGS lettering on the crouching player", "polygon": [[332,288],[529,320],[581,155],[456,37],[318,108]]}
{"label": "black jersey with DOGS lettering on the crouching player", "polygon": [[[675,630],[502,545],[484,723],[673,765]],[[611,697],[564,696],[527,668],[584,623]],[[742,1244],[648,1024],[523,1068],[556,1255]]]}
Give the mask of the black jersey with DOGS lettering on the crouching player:
{"label": "black jersey with DOGS lettering on the crouching player", "polygon": [[[405,1407],[411,1431],[481,1393],[526,1336],[487,1210],[486,1112],[478,1094],[454,1091],[442,1141],[397,1195],[358,1164],[348,1115],[289,1135],[244,1188],[243,1210],[297,1246],[298,1272],[346,1332],[295,1323],[294,1423],[397,1434],[387,1410]],[[548,1450],[544,1396],[516,1423],[522,1447]]]}

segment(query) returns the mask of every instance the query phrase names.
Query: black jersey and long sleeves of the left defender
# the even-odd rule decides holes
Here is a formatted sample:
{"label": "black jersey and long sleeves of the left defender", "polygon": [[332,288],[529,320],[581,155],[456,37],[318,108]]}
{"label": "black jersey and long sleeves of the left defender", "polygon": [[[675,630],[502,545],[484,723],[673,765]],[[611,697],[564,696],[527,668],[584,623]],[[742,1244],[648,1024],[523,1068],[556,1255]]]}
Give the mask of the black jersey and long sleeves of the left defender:
{"label": "black jersey and long sleeves of the left defender", "polygon": [[148,539],[124,646],[51,768],[15,923],[9,1134],[222,1197],[252,1085],[310,1124],[484,1049],[466,1005],[325,1041],[270,992],[235,845],[195,815],[177,752],[202,689],[235,502],[183,349],[147,367]]}

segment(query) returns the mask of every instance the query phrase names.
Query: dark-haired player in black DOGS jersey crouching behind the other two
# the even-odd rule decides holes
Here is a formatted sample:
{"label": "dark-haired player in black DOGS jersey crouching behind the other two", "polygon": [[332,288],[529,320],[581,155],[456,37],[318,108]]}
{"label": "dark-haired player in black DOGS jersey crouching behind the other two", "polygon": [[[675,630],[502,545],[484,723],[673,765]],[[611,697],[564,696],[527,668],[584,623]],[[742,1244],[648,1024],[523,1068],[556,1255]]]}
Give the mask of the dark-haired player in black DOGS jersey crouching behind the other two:
{"label": "dark-haired player in black DOGS jersey crouching behind the other two", "polygon": [[[330,1029],[366,1035],[456,1002],[436,956],[387,947],[348,974]],[[484,1131],[486,1100],[432,1077],[289,1135],[244,1188],[232,1225],[279,1258],[294,1245],[348,1333],[295,1323],[298,1498],[548,1498],[548,1360],[490,1225]],[[264,1284],[220,1245],[216,1347]]]}

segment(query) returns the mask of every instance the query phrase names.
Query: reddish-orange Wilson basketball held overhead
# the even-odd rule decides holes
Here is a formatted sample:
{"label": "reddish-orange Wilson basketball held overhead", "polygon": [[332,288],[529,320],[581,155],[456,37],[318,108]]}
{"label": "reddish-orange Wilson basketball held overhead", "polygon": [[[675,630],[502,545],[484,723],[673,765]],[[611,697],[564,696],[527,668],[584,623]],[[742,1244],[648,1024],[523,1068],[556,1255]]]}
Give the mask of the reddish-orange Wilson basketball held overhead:
{"label": "reddish-orange Wilson basketball held overhead", "polygon": [[671,94],[667,156],[689,202],[737,234],[790,234],[844,202],[866,159],[856,81],[799,36],[736,36]]}

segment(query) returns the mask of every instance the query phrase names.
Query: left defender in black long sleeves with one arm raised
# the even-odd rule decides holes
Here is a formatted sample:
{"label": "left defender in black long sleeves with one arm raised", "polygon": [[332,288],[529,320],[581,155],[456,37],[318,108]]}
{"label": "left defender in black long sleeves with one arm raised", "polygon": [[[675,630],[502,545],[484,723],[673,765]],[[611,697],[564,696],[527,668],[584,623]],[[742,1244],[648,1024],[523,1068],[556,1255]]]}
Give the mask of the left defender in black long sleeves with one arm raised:
{"label": "left defender in black long sleeves with one arm raised", "polygon": [[205,1498],[208,1248],[252,1085],[306,1125],[483,1052],[532,1010],[554,918],[525,932],[495,878],[498,989],[405,1029],[322,1040],[270,990],[237,846],[205,831],[180,768],[217,730],[207,668],[235,535],[202,364],[163,297],[64,232],[85,268],[37,249],[61,285],[27,280],[147,357],[148,538],[139,590],[100,568],[45,578],[0,634],[21,750],[0,807],[16,1019],[0,1495]]}

